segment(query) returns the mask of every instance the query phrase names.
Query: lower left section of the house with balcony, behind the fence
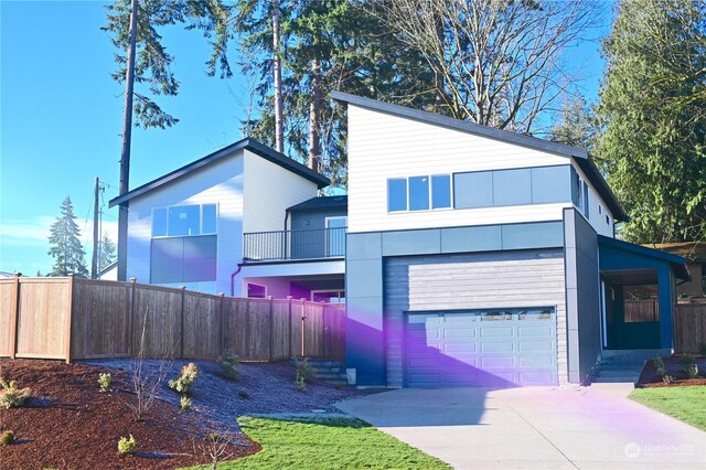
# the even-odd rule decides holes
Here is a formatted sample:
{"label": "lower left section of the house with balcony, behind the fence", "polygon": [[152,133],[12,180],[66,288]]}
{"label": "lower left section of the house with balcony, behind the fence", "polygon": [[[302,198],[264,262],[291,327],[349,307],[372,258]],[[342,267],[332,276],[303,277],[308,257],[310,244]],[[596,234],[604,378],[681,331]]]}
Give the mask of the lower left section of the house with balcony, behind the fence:
{"label": "lower left section of the house with balcony, behind the fence", "polygon": [[128,206],[127,277],[232,296],[340,299],[346,201],[319,197],[329,184],[254,139],[195,160],[110,201]]}

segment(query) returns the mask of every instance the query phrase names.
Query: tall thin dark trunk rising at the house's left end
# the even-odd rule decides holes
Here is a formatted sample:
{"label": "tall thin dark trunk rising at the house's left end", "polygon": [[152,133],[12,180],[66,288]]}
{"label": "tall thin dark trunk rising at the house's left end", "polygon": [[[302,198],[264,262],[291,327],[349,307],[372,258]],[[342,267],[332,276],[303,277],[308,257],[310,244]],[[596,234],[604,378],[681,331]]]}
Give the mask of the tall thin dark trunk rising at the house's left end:
{"label": "tall thin dark trunk rising at the house's left end", "polygon": [[[122,152],[120,153],[120,183],[118,194],[129,191],[130,142],[132,138],[132,89],[135,87],[135,44],[137,42],[138,0],[132,0],[128,44],[127,71],[125,73],[125,110],[122,119]],[[118,216],[118,280],[126,280],[128,268],[128,206],[120,204]]]}

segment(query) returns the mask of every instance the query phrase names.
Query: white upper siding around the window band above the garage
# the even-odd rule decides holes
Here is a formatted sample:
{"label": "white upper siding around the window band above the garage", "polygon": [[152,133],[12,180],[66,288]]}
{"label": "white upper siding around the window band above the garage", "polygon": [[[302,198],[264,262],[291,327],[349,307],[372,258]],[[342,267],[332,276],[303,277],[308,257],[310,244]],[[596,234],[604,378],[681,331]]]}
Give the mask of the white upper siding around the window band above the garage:
{"label": "white upper siding around the window band above the garage", "polygon": [[[387,179],[568,164],[560,157],[349,105],[349,232],[560,221],[566,204],[387,212]],[[569,184],[567,181],[566,184]]]}

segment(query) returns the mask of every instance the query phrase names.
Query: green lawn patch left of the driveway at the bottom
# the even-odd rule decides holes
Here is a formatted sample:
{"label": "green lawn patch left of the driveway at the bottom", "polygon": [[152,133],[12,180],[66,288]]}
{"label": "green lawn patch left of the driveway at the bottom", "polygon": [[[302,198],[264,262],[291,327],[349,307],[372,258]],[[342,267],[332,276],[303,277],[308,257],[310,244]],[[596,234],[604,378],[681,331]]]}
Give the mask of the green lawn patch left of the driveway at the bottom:
{"label": "green lawn patch left of the driveway at the bottom", "polygon": [[296,419],[238,418],[243,431],[259,442],[263,450],[218,468],[449,468],[442,461],[355,418]]}

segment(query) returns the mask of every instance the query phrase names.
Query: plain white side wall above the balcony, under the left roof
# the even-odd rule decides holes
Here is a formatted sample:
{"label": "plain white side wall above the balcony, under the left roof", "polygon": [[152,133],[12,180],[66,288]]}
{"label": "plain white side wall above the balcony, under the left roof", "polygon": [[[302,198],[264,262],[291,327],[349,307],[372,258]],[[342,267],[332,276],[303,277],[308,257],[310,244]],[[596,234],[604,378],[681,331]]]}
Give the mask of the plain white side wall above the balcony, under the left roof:
{"label": "plain white side wall above the balcony, under the left roof", "polygon": [[287,207],[314,197],[318,192],[315,183],[247,150],[245,174],[246,233],[285,229]]}

